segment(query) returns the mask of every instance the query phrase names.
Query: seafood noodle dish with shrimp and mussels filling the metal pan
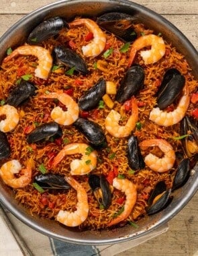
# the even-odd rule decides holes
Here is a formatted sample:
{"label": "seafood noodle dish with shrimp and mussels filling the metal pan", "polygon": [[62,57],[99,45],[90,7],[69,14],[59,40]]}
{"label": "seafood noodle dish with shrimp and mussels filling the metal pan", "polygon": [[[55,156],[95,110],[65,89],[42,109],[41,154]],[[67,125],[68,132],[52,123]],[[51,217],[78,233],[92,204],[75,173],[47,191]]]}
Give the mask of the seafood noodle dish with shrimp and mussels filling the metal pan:
{"label": "seafood noodle dish with shrimp and mussels filling the metal pan", "polygon": [[136,228],[198,160],[198,81],[132,15],[52,17],[0,67],[0,179],[32,216]]}

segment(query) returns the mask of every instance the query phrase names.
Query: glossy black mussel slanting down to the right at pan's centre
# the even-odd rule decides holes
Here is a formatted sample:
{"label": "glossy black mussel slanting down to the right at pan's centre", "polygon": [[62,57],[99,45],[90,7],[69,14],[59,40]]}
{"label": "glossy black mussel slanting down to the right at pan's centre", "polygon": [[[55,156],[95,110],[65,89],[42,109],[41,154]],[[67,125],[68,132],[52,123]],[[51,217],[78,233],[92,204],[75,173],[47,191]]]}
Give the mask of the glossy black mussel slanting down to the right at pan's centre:
{"label": "glossy black mussel slanting down to the right at pan's centre", "polygon": [[105,133],[99,124],[88,119],[79,118],[73,125],[85,135],[94,148],[103,148],[105,146]]}

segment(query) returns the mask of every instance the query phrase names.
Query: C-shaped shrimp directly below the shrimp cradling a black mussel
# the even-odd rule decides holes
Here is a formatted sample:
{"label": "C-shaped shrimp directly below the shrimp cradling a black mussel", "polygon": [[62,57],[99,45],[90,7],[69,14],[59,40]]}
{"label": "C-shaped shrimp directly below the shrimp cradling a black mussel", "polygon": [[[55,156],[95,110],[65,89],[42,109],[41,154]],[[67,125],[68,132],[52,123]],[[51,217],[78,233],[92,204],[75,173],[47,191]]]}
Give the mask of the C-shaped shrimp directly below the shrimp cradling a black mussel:
{"label": "C-shaped shrimp directly below the shrimp cradling a black mussel", "polygon": [[140,143],[142,150],[154,146],[158,146],[164,153],[164,156],[158,158],[158,156],[150,153],[144,158],[145,164],[155,172],[166,172],[170,170],[175,163],[175,152],[172,146],[164,139],[146,139]]}

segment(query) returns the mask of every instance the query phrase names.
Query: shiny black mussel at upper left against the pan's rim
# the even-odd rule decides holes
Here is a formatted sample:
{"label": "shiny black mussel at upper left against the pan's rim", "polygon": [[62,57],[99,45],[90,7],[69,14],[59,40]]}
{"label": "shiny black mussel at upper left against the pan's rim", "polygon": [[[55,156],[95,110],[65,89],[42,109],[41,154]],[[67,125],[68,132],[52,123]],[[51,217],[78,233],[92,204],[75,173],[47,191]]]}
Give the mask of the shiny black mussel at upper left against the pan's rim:
{"label": "shiny black mussel at upper left against the pan's rim", "polygon": [[52,36],[55,36],[62,30],[68,28],[68,24],[60,17],[50,18],[40,23],[28,36],[29,44],[38,44]]}

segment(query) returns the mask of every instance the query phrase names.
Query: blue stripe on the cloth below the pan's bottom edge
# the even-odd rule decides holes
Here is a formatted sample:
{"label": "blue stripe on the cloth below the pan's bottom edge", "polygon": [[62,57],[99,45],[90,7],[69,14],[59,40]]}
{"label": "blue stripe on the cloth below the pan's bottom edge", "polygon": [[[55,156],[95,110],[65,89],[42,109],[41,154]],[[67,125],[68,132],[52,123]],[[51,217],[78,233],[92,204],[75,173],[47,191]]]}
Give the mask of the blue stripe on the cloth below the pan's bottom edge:
{"label": "blue stripe on the cloth below the pan's bottom edge", "polygon": [[54,256],[99,256],[99,251],[92,245],[77,245],[50,238]]}

